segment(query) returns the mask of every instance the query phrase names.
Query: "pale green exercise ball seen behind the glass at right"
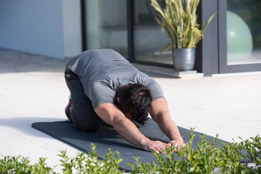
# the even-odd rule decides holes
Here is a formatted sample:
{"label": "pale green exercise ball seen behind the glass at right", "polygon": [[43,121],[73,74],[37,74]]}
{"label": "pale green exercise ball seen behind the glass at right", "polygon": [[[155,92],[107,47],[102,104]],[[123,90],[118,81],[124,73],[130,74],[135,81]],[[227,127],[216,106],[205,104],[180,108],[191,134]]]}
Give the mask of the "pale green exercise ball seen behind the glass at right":
{"label": "pale green exercise ball seen behind the glass at right", "polygon": [[237,14],[227,11],[227,56],[228,62],[247,61],[253,49],[251,31]]}

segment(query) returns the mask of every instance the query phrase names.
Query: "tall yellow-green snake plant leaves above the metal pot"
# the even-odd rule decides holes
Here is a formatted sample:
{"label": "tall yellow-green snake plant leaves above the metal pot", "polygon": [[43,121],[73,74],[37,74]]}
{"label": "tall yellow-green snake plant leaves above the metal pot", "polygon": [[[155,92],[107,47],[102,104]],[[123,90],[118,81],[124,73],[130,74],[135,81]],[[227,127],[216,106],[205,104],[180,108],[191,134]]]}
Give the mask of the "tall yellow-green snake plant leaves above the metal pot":
{"label": "tall yellow-green snake plant leaves above the metal pot", "polygon": [[205,25],[199,29],[196,9],[199,0],[165,0],[165,8],[162,9],[156,0],[150,1],[157,12],[155,19],[165,30],[171,42],[162,48],[161,52],[168,48],[195,48],[208,24],[216,15],[210,16]]}

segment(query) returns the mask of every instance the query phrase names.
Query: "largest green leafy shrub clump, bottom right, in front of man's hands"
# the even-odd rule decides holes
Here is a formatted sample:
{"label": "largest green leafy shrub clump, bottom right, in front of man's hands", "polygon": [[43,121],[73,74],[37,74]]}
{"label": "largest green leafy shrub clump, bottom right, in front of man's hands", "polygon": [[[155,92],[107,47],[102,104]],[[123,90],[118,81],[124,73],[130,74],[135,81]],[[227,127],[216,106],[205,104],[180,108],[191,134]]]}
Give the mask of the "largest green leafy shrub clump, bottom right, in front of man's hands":
{"label": "largest green leafy shrub clump, bottom right, in front of man's hands", "polygon": [[[142,164],[139,159],[136,160],[136,167],[128,164],[133,170],[132,174],[212,174],[214,169],[218,169],[220,174],[261,174],[261,137],[256,136],[250,140],[239,143],[222,144],[223,148],[216,146],[218,135],[211,142],[205,134],[201,134],[201,141],[197,149],[191,148],[194,140],[193,129],[191,129],[190,140],[187,146],[180,149],[178,153],[172,153],[174,147],[165,149],[166,155],[154,153],[156,161],[150,164]],[[244,156],[241,151],[246,149],[249,155]],[[173,160],[174,157],[177,160]],[[255,168],[248,164],[240,164],[242,159],[252,159],[256,164]]]}

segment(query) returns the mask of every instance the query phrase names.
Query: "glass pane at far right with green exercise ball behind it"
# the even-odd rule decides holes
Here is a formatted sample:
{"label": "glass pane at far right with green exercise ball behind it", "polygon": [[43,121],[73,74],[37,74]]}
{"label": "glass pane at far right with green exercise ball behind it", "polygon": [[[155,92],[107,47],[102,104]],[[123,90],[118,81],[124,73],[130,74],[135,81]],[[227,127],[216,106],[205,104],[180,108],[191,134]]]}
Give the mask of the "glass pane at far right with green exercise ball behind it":
{"label": "glass pane at far right with green exercise ball behind it", "polygon": [[228,65],[261,63],[261,0],[227,0]]}

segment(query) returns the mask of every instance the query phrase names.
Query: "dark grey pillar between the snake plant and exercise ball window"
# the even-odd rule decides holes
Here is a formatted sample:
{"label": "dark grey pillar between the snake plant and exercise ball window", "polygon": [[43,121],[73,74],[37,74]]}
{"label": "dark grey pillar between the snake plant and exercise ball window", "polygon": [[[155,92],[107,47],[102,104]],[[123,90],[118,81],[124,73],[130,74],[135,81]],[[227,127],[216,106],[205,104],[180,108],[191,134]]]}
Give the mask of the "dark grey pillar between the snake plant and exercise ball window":
{"label": "dark grey pillar between the snake plant and exercise ball window", "polygon": [[[200,0],[197,8],[198,22],[202,26],[209,17],[218,12],[218,0]],[[218,56],[218,13],[209,23],[204,37],[196,47],[195,70],[204,76],[219,73]]]}

